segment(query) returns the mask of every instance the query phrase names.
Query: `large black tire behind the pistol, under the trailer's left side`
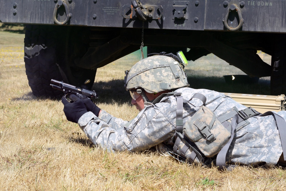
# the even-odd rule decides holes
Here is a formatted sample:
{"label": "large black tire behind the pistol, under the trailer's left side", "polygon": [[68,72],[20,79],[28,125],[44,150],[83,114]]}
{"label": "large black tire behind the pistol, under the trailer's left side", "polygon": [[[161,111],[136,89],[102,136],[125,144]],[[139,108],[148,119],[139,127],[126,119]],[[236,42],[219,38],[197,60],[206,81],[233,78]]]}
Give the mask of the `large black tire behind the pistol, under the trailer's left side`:
{"label": "large black tire behind the pistol, under the trailer's left side", "polygon": [[[89,79],[91,82],[84,88],[92,87],[96,71],[78,68],[74,64],[74,60],[80,59],[88,49],[88,43],[81,41],[80,29],[54,25],[26,26],[24,61],[29,86],[35,96],[59,98],[63,95],[50,86],[51,79],[64,80],[75,86],[82,86]],[[82,31],[88,31],[85,29]],[[80,47],[80,52],[74,51],[76,46]]]}

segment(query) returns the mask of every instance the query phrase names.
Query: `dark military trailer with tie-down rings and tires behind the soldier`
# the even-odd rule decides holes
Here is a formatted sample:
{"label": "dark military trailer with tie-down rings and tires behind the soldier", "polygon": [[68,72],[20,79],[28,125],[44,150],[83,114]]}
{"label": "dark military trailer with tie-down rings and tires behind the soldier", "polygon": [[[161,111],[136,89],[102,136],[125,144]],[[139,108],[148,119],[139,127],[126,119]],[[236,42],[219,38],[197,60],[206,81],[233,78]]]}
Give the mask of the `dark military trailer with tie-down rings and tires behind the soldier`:
{"label": "dark military trailer with tie-down rings and tires behind the soldier", "polygon": [[142,41],[148,52],[184,50],[188,60],[213,53],[249,76],[271,76],[271,94],[286,94],[284,0],[0,0],[0,20],[26,24],[24,60],[36,96],[61,93],[52,78],[93,81],[97,68]]}

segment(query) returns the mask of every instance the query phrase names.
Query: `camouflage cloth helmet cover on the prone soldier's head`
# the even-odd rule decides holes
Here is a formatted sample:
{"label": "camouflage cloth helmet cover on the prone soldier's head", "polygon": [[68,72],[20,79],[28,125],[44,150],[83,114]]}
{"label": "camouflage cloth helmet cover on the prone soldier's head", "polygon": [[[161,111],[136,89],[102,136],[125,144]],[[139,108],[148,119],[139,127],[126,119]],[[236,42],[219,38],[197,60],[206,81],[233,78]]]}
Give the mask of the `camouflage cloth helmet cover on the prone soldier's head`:
{"label": "camouflage cloth helmet cover on the prone soldier's head", "polygon": [[188,86],[181,63],[170,56],[150,56],[137,62],[125,77],[125,88],[143,88],[148,93]]}

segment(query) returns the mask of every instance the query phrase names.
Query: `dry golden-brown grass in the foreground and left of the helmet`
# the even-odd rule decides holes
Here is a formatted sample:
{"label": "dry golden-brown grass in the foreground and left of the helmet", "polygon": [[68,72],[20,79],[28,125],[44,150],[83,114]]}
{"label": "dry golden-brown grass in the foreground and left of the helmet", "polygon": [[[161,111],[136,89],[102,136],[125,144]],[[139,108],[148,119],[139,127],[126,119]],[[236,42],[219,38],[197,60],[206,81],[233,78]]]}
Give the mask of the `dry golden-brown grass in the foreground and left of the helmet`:
{"label": "dry golden-brown grass in the foreground and left of the helmet", "polygon": [[[19,44],[0,45],[0,190],[286,189],[286,171],[279,168],[218,172],[152,151],[108,153],[94,147],[77,124],[66,120],[61,102],[33,96],[23,35],[13,35]],[[3,36],[0,32],[0,41]],[[124,69],[136,59],[129,55],[100,68],[93,87],[100,94],[98,106],[125,120],[137,113],[122,87]]]}

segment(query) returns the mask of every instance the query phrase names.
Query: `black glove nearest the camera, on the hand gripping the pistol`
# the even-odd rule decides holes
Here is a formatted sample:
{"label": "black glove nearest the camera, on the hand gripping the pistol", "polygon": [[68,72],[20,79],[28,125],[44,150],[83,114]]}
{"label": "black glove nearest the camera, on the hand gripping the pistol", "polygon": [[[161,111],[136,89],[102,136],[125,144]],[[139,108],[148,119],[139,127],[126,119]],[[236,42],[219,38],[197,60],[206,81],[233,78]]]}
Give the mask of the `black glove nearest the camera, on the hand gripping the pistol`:
{"label": "black glove nearest the camera, on the hand gripping the pistol", "polygon": [[69,99],[72,100],[71,102],[67,101],[65,97],[63,96],[61,98],[61,102],[63,103],[63,112],[65,113],[65,117],[67,117],[67,120],[72,121],[74,123],[78,123],[78,120],[82,115],[87,113],[86,105],[80,99],[74,94],[71,94],[69,96]]}

